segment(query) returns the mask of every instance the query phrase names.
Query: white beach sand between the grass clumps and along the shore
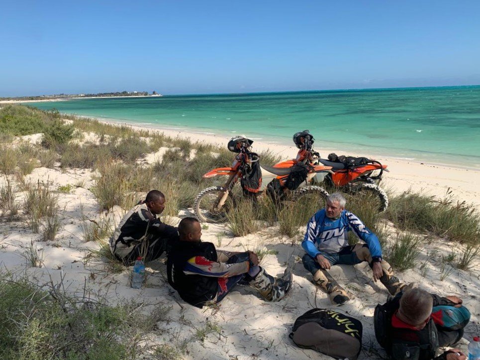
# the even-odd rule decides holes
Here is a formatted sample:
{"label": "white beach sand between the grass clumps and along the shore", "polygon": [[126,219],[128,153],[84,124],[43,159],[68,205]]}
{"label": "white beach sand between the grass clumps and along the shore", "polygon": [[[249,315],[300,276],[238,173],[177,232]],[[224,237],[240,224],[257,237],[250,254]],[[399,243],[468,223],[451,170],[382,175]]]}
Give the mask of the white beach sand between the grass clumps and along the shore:
{"label": "white beach sand between the grass clumps and along the shore", "polygon": [[[220,136],[173,130],[158,131],[173,137],[180,136],[221,146],[226,146],[228,141]],[[39,136],[26,138],[38,141]],[[318,145],[315,149],[322,157],[326,157],[330,152],[343,154],[341,149],[322,148],[321,140],[317,140],[315,145]],[[253,148],[254,151],[270,149],[285,158],[294,157],[296,154],[293,145],[255,142]],[[153,163],[161,155],[162,151],[152,153],[146,156],[146,160]],[[384,175],[384,188],[394,192],[425,190],[440,198],[450,189],[459,201],[473,203],[480,209],[478,171],[387,157],[379,157],[378,160],[388,165],[390,170]],[[36,168],[26,177],[26,181],[32,183],[38,180],[47,181],[52,190],[69,184],[73,185],[73,189],[66,194],[59,193],[59,204],[64,211],[62,228],[55,242],[41,241],[41,236],[33,234],[26,224],[0,223],[0,266],[3,271],[26,274],[39,285],[50,279],[54,283],[63,279],[67,291],[85,298],[107,299],[110,304],[135,300],[144,304],[143,309],[147,314],[162,306],[165,316],[158,322],[158,330],[145,339],[145,345],[166,344],[182,348],[182,357],[185,359],[331,359],[312,350],[300,349],[288,338],[291,326],[299,315],[314,307],[332,308],[327,296],[311,283],[311,275],[303,268],[300,258],[304,251],[299,242],[292,243],[292,239],[279,237],[275,226],[245,237],[232,237],[225,225],[206,224],[202,230],[202,240],[211,241],[220,248],[233,251],[273,250],[272,254],[264,257],[261,264],[273,275],[282,273],[288,257],[293,255],[296,259],[293,286],[288,297],[278,303],[265,302],[254,291],[238,286],[220,303],[218,309],[194,308],[185,303],[168,285],[164,256],[148,264],[146,285],[139,290],[132,289],[129,271],[111,272],[107,260],[91,254],[91,249],[98,248],[99,244],[84,242],[82,239],[83,215],[92,220],[110,216],[117,224],[124,213],[117,207],[106,215],[98,213],[96,199],[90,190],[94,183],[93,175],[89,170]],[[5,182],[6,177],[0,176],[0,183]],[[192,215],[192,209],[184,209],[179,213],[177,221],[189,215]],[[397,231],[391,226],[389,229],[394,237]],[[24,257],[31,243],[42,255],[41,267],[31,267]],[[471,323],[460,343],[460,348],[466,351],[468,341],[479,333],[479,259],[469,271],[452,267],[449,276],[441,280],[445,271],[442,255],[449,254],[452,250],[460,252],[463,247],[464,245],[449,243],[441,238],[432,238],[425,241],[418,259],[419,266],[420,263],[425,263],[427,271],[424,272],[417,266],[397,275],[404,282],[416,282],[430,292],[441,295],[455,294],[463,299],[464,305],[472,313]],[[363,349],[359,359],[382,359],[384,351],[375,340],[373,314],[375,306],[386,300],[387,291],[373,281],[367,263],[334,266],[331,274],[341,284],[348,283],[347,289],[354,295],[351,301],[335,309],[354,316],[363,323]],[[208,324],[220,330],[207,332],[203,340],[199,339],[197,330],[211,329]]]}

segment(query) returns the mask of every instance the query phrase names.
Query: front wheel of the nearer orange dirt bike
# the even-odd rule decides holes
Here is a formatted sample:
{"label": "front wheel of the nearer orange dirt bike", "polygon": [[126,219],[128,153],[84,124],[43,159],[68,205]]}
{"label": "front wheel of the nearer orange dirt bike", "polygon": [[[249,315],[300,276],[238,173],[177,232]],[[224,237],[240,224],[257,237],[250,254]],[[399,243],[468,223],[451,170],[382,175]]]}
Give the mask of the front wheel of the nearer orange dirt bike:
{"label": "front wheel of the nearer orange dirt bike", "polygon": [[206,223],[224,223],[228,212],[233,209],[234,201],[229,193],[225,203],[219,208],[218,203],[225,194],[222,186],[210,186],[198,193],[193,209],[198,220]]}

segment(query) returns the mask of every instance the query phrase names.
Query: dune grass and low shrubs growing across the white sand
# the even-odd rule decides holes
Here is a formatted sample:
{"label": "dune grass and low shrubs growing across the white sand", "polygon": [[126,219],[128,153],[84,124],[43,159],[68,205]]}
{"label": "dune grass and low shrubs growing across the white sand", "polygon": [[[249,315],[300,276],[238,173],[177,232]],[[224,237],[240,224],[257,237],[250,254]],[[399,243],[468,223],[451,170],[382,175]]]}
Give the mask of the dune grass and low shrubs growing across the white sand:
{"label": "dune grass and low shrubs growing across the white sand", "polygon": [[[19,142],[11,146],[14,136],[34,133],[44,134],[41,143]],[[94,184],[89,185],[89,190],[96,198],[98,212],[110,211],[115,206],[128,210],[147,191],[157,188],[167,198],[163,221],[178,225],[179,213],[192,207],[200,190],[224,180],[204,179],[202,175],[215,167],[230,166],[234,156],[227,149],[210,144],[22,106],[0,109],[0,134],[0,174],[6,179],[0,185],[1,217],[6,221],[23,217],[30,229],[39,234],[38,240],[45,241],[57,238],[61,217],[58,199],[72,196],[74,186],[51,188],[48,179],[30,183],[25,175],[35,167],[95,171]],[[153,164],[147,163],[145,155],[161,147],[163,157]],[[270,151],[260,156],[265,164],[280,160]],[[218,246],[232,235],[255,234],[272,226],[276,234],[289,237],[292,246],[298,246],[308,220],[323,206],[315,195],[305,197],[302,202],[287,199],[282,204],[269,197],[254,201],[235,195],[240,201],[227,215],[228,232],[216,236]],[[462,243],[462,250],[455,257],[447,254],[439,262],[440,280],[454,271],[453,266],[462,270],[472,268],[479,257],[479,214],[473,206],[453,201],[450,193],[441,201],[412,192],[391,196],[389,208],[382,214],[375,211],[368,196],[347,195],[347,200],[347,209],[378,235],[385,258],[395,270],[418,267],[424,276],[427,274],[429,266],[437,261],[430,258],[418,264],[420,245],[426,236]],[[110,218],[103,214],[87,217],[83,209],[81,213],[81,239],[98,243],[90,256],[103,258],[108,271],[126,271],[127,267],[113,258],[108,246],[107,239],[113,231]],[[393,228],[401,230],[402,235],[397,236]],[[208,228],[204,225],[202,229]],[[351,244],[357,241],[355,236],[349,238]],[[257,250],[259,257],[276,253],[263,247]],[[29,266],[43,266],[42,246],[38,242],[32,241],[24,248],[23,256]],[[107,307],[96,303],[87,309],[83,299],[51,294],[24,279],[0,280],[0,321],[10,327],[8,331],[5,326],[0,329],[2,359],[96,359],[97,354],[105,359],[133,359],[139,354],[140,335],[155,327],[130,304]],[[202,342],[208,335],[217,336],[220,332],[221,328],[208,322],[197,329],[195,336]],[[153,352],[158,359],[180,359],[182,354],[178,349],[161,345]]]}

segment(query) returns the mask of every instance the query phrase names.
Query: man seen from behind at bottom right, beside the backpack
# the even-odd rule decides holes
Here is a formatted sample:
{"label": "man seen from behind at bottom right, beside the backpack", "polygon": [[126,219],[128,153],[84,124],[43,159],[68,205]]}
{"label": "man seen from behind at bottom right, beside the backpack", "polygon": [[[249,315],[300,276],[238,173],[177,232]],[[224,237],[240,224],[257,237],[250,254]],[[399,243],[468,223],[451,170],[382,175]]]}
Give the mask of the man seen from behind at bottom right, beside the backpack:
{"label": "man seen from behind at bottom right, beside the backpack", "polygon": [[451,347],[462,339],[470,321],[462,299],[408,287],[375,309],[375,335],[391,359],[467,359],[460,349],[435,357],[439,347]]}

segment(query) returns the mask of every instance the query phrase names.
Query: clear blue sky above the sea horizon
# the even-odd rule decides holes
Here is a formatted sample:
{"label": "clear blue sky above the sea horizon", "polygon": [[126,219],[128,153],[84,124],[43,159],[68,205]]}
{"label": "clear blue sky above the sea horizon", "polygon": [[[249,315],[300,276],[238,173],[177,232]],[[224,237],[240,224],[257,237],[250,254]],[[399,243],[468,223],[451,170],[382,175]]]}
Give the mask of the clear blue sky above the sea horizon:
{"label": "clear blue sky above the sea horizon", "polygon": [[480,84],[479,0],[2,1],[0,96]]}

